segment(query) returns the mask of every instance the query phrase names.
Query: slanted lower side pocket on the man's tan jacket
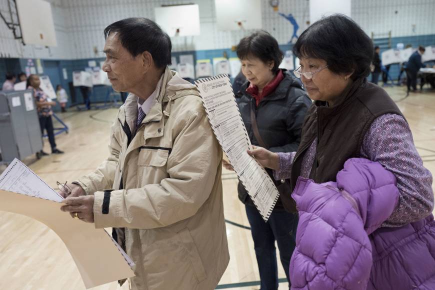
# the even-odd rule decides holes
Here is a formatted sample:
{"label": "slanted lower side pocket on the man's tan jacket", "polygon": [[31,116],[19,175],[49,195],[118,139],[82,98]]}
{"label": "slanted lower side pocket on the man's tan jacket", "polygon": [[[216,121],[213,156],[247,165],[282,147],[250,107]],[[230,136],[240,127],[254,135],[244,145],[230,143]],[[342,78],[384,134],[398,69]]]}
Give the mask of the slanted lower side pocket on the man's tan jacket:
{"label": "slanted lower side pocket on the man's tan jacket", "polygon": [[205,273],[204,265],[202,263],[196,244],[193,241],[192,235],[190,234],[190,231],[187,227],[178,231],[177,234],[181,239],[182,246],[187,252],[189,262],[196,276],[196,280],[198,283],[200,283],[207,278],[207,274]]}

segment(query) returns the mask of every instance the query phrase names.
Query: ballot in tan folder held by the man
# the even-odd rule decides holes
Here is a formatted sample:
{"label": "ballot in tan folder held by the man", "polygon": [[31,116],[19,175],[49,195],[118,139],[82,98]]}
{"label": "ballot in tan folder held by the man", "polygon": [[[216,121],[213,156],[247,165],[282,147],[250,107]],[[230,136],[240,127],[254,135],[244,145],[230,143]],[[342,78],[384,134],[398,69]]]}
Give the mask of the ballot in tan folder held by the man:
{"label": "ballot in tan folder held by the man", "polygon": [[0,210],[34,218],[61,238],[86,288],[134,276],[133,261],[115,240],[60,211],[63,197],[16,158],[0,175],[0,200]]}

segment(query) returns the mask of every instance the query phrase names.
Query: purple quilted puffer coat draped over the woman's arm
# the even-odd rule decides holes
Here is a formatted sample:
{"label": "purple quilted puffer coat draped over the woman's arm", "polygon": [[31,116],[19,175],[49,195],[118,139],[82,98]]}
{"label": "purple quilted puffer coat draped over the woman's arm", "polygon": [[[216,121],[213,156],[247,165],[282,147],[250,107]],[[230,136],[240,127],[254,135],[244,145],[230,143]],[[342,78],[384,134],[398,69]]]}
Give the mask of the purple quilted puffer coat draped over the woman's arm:
{"label": "purple quilted puffer coat draped over the woman's arm", "polygon": [[291,288],[435,289],[433,216],[379,228],[397,205],[399,192],[394,175],[377,162],[349,159],[336,180],[297,180]]}

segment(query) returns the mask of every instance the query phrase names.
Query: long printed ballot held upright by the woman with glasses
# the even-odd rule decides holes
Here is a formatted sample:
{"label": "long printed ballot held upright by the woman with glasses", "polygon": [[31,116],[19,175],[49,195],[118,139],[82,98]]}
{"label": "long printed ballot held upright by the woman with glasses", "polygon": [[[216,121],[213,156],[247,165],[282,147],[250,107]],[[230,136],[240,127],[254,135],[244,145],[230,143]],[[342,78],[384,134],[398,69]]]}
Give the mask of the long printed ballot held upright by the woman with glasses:
{"label": "long printed ballot held upright by the woman with glasses", "polygon": [[239,180],[264,221],[279,192],[264,168],[246,150],[252,149],[227,74],[195,81],[211,127]]}

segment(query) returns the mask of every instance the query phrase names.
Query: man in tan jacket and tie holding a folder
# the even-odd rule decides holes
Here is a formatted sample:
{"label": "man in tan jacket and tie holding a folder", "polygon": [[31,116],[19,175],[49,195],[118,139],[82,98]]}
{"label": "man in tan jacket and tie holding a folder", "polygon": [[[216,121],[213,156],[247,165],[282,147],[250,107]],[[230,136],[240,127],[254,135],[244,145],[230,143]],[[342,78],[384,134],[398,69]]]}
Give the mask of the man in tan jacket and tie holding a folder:
{"label": "man in tan jacket and tie holding a folder", "polygon": [[104,35],[103,69],[130,94],[108,158],[68,184],[62,210],[115,228],[135,262],[133,289],[214,289],[229,260],[222,151],[199,93],[167,68],[170,38],[151,20],[120,20]]}

